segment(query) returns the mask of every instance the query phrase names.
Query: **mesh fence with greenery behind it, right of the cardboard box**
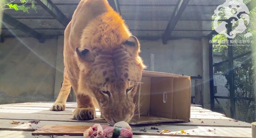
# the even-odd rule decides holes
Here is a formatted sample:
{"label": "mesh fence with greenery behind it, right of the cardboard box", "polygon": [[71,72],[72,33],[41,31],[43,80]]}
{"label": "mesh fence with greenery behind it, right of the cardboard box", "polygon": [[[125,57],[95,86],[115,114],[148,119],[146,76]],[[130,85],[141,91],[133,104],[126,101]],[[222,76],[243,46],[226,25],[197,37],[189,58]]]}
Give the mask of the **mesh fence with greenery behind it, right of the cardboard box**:
{"label": "mesh fence with greenery behind it, right of the cardboard box", "polygon": [[227,19],[232,26],[228,26],[226,33],[234,33],[244,25],[246,29],[243,33],[237,33],[233,39],[223,34],[212,38],[210,71],[213,72],[211,98],[214,100],[211,104],[216,112],[251,123],[256,121],[254,64],[251,52],[254,43],[252,35],[255,35],[255,25],[251,20],[256,17],[256,8],[251,10],[249,15],[242,13],[240,17],[242,18],[236,19],[236,23],[232,18]]}

